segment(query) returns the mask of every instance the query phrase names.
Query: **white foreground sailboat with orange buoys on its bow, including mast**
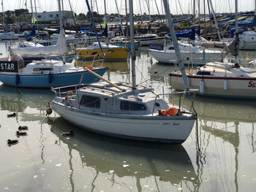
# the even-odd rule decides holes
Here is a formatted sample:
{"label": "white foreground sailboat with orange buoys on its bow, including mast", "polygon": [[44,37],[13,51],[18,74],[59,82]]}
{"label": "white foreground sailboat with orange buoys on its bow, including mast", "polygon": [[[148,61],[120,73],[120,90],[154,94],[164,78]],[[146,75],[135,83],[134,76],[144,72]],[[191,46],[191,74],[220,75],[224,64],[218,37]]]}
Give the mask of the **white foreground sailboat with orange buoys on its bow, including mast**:
{"label": "white foreground sailboat with orange buoys on its bow, including mast", "polygon": [[[88,0],[86,4],[91,12]],[[195,91],[157,94],[153,88],[136,85],[132,9],[130,0],[132,84],[115,84],[99,77],[104,82],[74,85],[69,90],[67,87],[53,88],[55,97],[49,101],[50,107],[62,118],[89,131],[112,137],[180,144],[189,137],[197,119],[195,111],[182,107],[181,97],[190,94],[193,99]],[[167,14],[170,15],[170,11]],[[180,95],[180,105],[168,104],[160,98],[169,94]],[[169,115],[163,111],[167,109]]]}

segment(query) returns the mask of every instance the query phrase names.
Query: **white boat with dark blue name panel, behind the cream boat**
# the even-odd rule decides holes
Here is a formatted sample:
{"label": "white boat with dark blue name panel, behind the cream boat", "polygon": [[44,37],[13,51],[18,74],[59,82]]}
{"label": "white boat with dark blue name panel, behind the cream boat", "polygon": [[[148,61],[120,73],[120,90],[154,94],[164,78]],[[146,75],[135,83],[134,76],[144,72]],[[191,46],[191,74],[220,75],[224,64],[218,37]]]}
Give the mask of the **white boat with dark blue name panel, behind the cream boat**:
{"label": "white boat with dark blue name panel, behind the cream boat", "polygon": [[[222,61],[223,53],[220,50],[208,50],[188,43],[179,43],[181,56],[185,63],[206,64],[211,61]],[[161,45],[150,45],[149,54],[157,61],[165,64],[176,64],[177,57],[173,44],[168,44],[165,49]]]}

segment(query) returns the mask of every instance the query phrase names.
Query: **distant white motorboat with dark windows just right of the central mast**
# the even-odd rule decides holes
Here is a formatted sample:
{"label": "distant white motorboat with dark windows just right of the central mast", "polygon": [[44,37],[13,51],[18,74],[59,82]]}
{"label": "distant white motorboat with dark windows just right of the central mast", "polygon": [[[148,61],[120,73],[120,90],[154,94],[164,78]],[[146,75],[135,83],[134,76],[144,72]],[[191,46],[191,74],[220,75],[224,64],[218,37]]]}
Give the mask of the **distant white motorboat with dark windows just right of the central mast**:
{"label": "distant white motorboat with dark windows just right of the central mast", "polygon": [[135,40],[139,41],[141,46],[148,46],[150,43],[164,43],[165,37],[159,37],[157,34],[141,34],[135,36]]}

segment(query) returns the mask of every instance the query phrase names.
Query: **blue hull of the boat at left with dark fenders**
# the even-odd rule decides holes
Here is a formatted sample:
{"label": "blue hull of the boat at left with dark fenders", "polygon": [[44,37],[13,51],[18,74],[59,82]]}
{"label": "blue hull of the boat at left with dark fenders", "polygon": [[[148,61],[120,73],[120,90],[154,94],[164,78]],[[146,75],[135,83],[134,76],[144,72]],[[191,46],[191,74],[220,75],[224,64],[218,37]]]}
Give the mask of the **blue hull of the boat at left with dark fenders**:
{"label": "blue hull of the boat at left with dark fenders", "polygon": [[[106,70],[107,68],[94,69],[94,72],[102,76],[106,72]],[[88,84],[91,82],[97,82],[99,80],[99,78],[95,77],[89,72],[79,71],[52,74],[51,77],[49,77],[49,74],[19,74],[17,77],[16,74],[0,73],[0,81],[3,82],[4,85],[10,85],[14,87],[51,88],[67,85],[77,85],[80,82],[82,74],[83,80],[81,83]],[[17,78],[19,80],[17,80]]]}

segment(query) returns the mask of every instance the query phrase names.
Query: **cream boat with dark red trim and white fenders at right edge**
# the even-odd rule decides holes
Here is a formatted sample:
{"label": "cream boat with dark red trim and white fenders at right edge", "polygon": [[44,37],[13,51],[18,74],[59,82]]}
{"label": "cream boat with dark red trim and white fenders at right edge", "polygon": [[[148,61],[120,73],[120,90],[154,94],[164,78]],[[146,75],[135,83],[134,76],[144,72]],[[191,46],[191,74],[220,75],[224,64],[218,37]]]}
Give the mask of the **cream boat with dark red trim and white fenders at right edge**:
{"label": "cream boat with dark red trim and white fenders at right edge", "polygon": [[[198,94],[231,98],[256,99],[256,70],[228,62],[211,62],[197,70],[187,71],[190,88]],[[170,73],[170,85],[183,90],[180,72]]]}

